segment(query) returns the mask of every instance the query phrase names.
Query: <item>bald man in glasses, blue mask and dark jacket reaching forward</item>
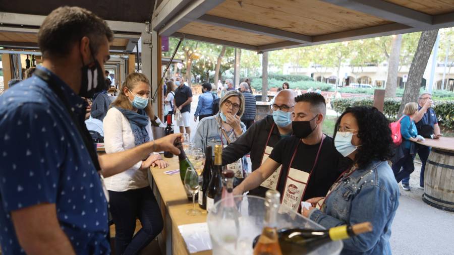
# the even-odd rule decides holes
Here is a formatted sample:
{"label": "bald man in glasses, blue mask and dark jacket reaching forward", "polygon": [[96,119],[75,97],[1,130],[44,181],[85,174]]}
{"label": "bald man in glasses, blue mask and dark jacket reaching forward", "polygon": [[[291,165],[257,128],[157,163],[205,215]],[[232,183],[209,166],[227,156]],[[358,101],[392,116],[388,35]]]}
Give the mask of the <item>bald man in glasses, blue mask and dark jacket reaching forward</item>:
{"label": "bald man in glasses, blue mask and dark jacket reaching forward", "polygon": [[[295,107],[294,90],[282,90],[274,97],[272,115],[255,122],[237,141],[222,151],[222,164],[230,164],[251,152],[252,171],[260,167],[282,138],[292,134],[291,113]],[[280,170],[280,169],[279,169]],[[249,191],[250,195],[265,197],[267,186],[258,186]]]}

